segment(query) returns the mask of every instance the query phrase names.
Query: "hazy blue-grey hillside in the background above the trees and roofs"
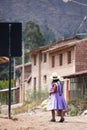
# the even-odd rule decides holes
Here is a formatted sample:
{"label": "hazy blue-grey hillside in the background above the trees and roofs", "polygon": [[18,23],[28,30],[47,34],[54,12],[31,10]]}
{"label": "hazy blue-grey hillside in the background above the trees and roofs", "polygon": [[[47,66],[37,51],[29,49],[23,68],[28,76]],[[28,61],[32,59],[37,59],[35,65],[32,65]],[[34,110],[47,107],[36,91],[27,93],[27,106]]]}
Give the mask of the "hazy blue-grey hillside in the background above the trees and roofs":
{"label": "hazy blue-grey hillside in the background above the trees and roofs", "polygon": [[[82,3],[87,4],[87,0],[82,0]],[[86,15],[87,7],[73,2],[64,3],[62,0],[0,1],[1,21],[20,21],[24,27],[27,21],[32,20],[40,25],[41,30],[47,24],[56,37],[73,35]],[[87,22],[82,25],[80,32],[86,32],[86,26]]]}

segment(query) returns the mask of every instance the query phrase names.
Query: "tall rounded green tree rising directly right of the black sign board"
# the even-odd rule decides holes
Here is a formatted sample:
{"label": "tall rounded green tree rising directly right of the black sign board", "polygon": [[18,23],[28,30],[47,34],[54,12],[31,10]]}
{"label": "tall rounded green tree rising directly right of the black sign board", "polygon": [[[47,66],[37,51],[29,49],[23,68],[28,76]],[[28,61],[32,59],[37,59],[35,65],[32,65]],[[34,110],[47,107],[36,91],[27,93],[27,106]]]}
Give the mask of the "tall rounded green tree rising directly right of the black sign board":
{"label": "tall rounded green tree rising directly right of the black sign board", "polygon": [[40,32],[39,25],[28,21],[23,31],[25,37],[25,49],[35,49],[44,45],[44,37]]}

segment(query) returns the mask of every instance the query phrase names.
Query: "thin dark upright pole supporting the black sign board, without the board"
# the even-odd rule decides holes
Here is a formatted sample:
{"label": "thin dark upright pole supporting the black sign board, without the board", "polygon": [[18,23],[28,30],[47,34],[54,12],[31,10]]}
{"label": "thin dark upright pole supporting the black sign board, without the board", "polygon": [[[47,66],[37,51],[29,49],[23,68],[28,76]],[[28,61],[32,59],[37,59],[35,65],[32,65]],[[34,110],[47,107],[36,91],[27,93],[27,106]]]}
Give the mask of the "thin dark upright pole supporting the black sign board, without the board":
{"label": "thin dark upright pole supporting the black sign board, without the board", "polygon": [[8,116],[11,118],[11,24],[9,24],[9,99]]}

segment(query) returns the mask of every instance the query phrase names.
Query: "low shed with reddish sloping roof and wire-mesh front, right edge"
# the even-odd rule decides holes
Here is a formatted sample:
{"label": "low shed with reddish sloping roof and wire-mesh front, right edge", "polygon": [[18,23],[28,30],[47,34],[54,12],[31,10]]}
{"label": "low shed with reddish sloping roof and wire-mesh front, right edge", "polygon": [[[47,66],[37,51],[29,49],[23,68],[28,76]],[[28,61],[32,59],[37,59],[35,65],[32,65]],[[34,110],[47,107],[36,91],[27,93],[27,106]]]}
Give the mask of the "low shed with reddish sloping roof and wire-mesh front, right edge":
{"label": "low shed with reddish sloping roof and wire-mesh front, right edge", "polygon": [[87,100],[87,69],[64,76],[70,80],[69,99]]}

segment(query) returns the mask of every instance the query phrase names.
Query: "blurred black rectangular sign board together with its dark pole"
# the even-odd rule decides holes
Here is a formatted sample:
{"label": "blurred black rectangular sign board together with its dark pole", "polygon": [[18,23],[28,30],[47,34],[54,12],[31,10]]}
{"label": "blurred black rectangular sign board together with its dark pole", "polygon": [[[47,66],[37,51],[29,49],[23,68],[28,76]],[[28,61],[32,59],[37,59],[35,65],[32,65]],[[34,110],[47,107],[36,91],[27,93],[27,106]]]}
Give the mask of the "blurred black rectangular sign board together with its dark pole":
{"label": "blurred black rectangular sign board together with its dark pole", "polygon": [[0,56],[9,57],[8,116],[11,118],[11,58],[22,56],[22,23],[0,23]]}

